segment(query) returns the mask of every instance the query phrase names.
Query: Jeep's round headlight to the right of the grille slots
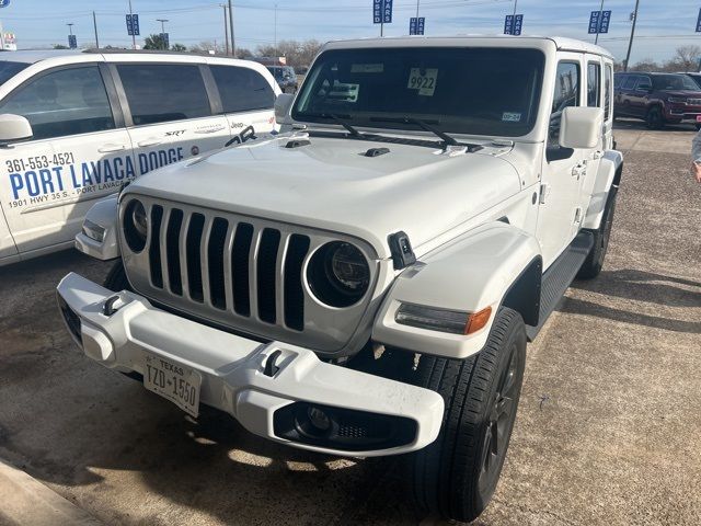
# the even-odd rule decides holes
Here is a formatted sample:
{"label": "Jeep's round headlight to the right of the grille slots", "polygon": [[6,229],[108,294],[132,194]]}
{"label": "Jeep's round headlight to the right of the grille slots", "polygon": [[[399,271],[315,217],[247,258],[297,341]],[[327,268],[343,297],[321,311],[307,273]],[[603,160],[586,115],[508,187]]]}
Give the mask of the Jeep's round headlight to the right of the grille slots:
{"label": "Jeep's round headlight to the right of the grille slots", "polygon": [[334,241],[321,247],[311,258],[307,282],[322,302],[331,307],[349,307],[367,293],[370,267],[357,247]]}

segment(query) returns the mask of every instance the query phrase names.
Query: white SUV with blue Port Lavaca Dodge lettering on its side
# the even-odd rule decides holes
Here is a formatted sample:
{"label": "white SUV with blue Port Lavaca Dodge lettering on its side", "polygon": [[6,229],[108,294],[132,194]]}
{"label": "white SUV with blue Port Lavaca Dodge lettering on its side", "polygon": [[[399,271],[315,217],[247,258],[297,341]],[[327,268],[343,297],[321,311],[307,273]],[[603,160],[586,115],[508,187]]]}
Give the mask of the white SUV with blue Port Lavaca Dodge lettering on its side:
{"label": "white SUV with blue Port Lavaca Dodge lettering on its side", "polygon": [[71,247],[95,201],[138,175],[273,130],[277,93],[248,60],[3,54],[0,265]]}

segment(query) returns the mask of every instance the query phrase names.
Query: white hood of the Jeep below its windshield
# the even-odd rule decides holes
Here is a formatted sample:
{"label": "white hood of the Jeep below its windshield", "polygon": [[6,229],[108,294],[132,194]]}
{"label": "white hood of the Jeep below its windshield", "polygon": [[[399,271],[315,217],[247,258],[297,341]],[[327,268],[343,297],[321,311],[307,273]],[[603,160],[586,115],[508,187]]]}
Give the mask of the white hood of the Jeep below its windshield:
{"label": "white hood of the Jeep below its windshield", "polygon": [[[344,232],[386,259],[389,235],[403,230],[416,249],[521,185],[512,164],[489,148],[451,156],[341,135],[286,148],[289,140],[278,136],[166,167],[124,193]],[[370,148],[390,151],[365,157]]]}

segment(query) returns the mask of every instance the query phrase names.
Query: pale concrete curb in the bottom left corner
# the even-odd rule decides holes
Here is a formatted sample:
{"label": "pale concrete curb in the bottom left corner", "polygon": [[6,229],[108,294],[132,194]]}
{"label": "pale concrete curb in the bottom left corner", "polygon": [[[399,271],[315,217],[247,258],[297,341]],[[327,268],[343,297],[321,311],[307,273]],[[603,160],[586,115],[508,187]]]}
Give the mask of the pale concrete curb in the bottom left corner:
{"label": "pale concrete curb in the bottom left corner", "polygon": [[85,511],[2,459],[0,502],[2,525],[102,525]]}

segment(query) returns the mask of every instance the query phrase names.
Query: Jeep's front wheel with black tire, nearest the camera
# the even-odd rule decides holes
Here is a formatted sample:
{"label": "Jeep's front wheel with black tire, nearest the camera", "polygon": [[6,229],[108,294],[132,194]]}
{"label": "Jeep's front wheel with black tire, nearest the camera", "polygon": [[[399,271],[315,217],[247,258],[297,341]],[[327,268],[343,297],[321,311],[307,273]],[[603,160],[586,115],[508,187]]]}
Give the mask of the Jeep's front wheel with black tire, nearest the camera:
{"label": "Jeep's front wheel with black tire, nearest the camera", "polygon": [[438,438],[404,457],[409,494],[422,512],[472,521],[484,511],[506,458],[525,365],[524,320],[507,308],[497,312],[479,354],[422,356],[420,385],[446,404]]}

